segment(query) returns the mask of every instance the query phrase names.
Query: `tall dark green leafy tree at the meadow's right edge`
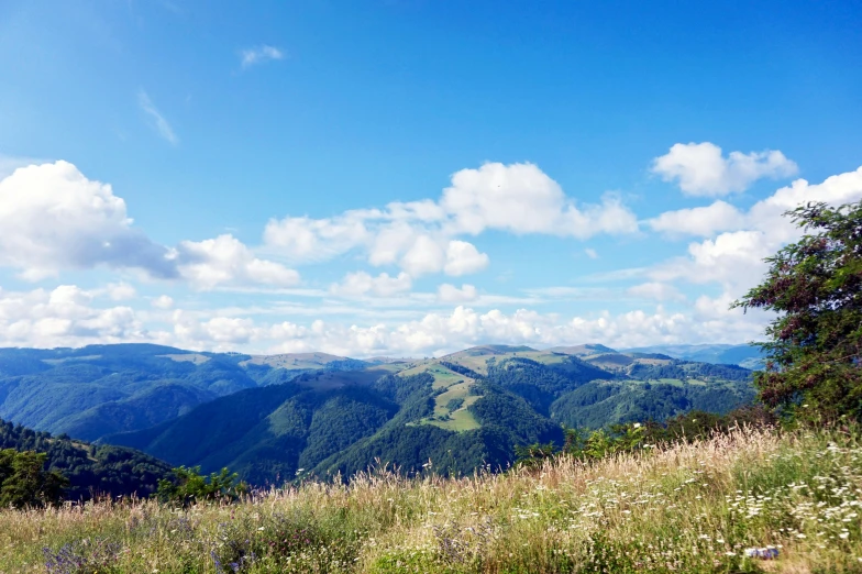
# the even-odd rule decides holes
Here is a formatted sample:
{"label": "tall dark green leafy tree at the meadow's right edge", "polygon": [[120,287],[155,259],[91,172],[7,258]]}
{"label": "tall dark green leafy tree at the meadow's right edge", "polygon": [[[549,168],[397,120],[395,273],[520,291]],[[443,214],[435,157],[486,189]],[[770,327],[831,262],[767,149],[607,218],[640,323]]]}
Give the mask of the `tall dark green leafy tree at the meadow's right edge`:
{"label": "tall dark green leafy tree at the meadow's right edge", "polygon": [[761,400],[806,419],[862,420],[862,202],[788,211],[806,234],[766,260],[761,285],[734,306],[778,314],[761,343]]}

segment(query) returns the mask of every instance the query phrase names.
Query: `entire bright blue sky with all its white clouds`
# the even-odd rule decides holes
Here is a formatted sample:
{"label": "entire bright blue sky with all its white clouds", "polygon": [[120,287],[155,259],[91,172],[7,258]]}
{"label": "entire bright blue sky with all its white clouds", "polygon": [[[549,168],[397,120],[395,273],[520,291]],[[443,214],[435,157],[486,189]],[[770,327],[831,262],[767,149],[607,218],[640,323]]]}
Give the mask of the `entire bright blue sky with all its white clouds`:
{"label": "entire bright blue sky with all its white clouds", "polygon": [[[0,345],[744,342],[853,2],[0,4]],[[694,210],[694,211],[690,211]]]}

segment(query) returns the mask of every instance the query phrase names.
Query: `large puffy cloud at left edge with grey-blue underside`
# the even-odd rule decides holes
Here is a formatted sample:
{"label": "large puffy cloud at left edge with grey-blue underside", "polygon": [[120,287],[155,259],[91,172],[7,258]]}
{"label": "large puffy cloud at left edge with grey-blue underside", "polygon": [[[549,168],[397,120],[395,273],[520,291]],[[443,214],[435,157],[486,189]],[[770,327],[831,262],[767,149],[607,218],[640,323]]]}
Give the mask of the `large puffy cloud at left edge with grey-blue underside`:
{"label": "large puffy cloud at left edge with grey-blue underside", "polygon": [[132,227],[111,186],[67,162],[31,165],[0,180],[0,265],[26,279],[99,265],[176,276],[168,251]]}

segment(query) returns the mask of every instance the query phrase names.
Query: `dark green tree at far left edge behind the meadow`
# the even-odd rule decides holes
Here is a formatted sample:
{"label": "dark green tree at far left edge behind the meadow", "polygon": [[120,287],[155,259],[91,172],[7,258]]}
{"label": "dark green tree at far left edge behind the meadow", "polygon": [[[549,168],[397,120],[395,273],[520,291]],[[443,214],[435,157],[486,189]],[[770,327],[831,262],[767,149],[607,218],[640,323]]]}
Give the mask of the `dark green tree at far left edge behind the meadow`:
{"label": "dark green tree at far left edge behind the meadow", "polygon": [[44,452],[0,451],[0,508],[41,508],[63,499],[68,479],[46,471]]}

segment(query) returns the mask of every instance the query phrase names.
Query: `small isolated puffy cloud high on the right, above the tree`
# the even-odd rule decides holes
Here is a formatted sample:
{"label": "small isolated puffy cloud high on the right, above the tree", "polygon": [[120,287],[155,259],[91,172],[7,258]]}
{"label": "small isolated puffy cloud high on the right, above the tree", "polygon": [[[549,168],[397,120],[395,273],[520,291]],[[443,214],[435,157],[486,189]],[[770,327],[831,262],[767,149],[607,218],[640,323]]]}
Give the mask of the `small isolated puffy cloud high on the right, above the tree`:
{"label": "small isolated puffy cloud high on the right, above the tree", "polygon": [[712,143],[674,144],[653,161],[652,172],[665,181],[677,181],[690,196],[725,196],[744,191],[763,177],[778,179],[798,173],[794,162],[778,151],[730,152],[725,158]]}

